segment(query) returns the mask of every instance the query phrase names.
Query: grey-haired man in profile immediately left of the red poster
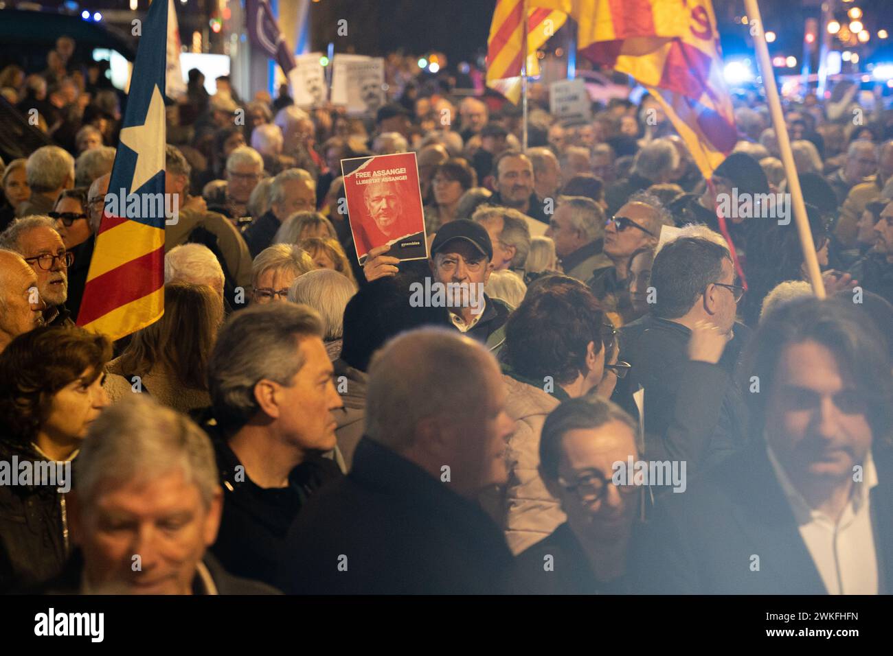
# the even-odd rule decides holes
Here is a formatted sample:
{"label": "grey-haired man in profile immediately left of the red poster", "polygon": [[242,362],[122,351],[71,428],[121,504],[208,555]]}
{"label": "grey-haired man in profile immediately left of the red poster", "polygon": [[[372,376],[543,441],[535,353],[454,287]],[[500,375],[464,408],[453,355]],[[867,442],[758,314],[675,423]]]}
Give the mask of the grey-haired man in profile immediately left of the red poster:
{"label": "grey-haired man in profile immediately left of the red poster", "polygon": [[313,212],[316,208],[313,177],[303,169],[283,170],[271,183],[270,203],[270,211],[255,219],[242,233],[252,257],[273,243],[282,222],[292,214]]}

